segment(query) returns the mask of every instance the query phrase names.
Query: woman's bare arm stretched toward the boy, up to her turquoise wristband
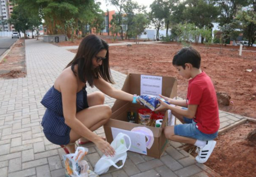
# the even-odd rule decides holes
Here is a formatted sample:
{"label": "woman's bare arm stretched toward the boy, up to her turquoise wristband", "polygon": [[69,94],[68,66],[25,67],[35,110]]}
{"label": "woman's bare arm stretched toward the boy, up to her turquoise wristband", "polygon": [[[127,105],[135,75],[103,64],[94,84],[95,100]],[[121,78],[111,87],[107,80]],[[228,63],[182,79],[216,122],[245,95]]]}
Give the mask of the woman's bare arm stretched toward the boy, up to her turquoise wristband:
{"label": "woman's bare arm stretched toward the boy, up to her turquoise wristband", "polygon": [[133,95],[122,90],[115,89],[112,87],[107,81],[102,78],[94,79],[93,81],[95,87],[97,87],[104,94],[110,96],[111,98],[115,98],[117,100],[130,101],[133,100]]}

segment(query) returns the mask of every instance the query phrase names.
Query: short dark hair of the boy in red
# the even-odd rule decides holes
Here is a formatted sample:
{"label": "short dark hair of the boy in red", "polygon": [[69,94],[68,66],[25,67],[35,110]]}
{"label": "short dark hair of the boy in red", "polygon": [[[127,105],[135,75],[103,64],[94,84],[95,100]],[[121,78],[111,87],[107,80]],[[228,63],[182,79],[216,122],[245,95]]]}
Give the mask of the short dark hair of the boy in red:
{"label": "short dark hair of the boy in red", "polygon": [[199,52],[192,47],[182,48],[173,57],[173,65],[182,66],[182,68],[185,69],[186,63],[190,63],[195,68],[200,68],[201,56]]}

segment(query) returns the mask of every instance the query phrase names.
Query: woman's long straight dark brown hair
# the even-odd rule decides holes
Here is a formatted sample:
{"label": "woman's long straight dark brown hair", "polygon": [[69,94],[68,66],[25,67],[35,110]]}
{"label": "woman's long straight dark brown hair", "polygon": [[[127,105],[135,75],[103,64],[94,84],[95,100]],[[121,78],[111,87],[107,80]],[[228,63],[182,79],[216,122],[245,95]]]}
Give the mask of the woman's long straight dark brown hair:
{"label": "woman's long straight dark brown hair", "polygon": [[[102,65],[95,69],[93,68],[93,58],[100,52],[100,50],[107,50],[106,59],[102,60]],[[74,65],[78,65],[77,73],[74,71]],[[66,66],[71,66],[71,70],[74,75],[78,74],[79,79],[89,86],[93,87],[93,80],[98,79],[99,76],[109,83],[114,83],[109,69],[109,51],[108,44],[103,39],[100,39],[96,35],[87,35],[81,41],[76,56]]]}

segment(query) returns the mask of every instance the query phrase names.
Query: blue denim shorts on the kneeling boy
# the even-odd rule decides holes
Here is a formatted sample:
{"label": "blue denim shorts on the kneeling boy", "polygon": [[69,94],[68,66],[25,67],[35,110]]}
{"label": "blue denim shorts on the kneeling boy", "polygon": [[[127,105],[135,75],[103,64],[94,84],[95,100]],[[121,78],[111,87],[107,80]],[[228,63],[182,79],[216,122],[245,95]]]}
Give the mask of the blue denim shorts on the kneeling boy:
{"label": "blue denim shorts on the kneeling boy", "polygon": [[193,138],[202,141],[213,140],[217,137],[218,131],[213,134],[202,133],[197,129],[195,121],[183,117],[186,124],[179,124],[174,126],[174,134],[179,136],[186,136],[188,138]]}

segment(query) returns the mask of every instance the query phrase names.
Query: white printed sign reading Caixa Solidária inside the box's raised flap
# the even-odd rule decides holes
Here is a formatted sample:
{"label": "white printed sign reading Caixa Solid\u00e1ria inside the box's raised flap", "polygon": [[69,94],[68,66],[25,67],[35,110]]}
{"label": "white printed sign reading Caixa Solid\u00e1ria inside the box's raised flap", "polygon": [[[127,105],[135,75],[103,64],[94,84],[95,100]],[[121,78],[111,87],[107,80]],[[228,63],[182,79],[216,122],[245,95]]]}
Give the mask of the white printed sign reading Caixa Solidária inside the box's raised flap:
{"label": "white printed sign reading Caixa Solid\u00e1ria inside the box's raised flap", "polygon": [[162,77],[141,75],[141,95],[158,96],[159,94],[162,94]]}

